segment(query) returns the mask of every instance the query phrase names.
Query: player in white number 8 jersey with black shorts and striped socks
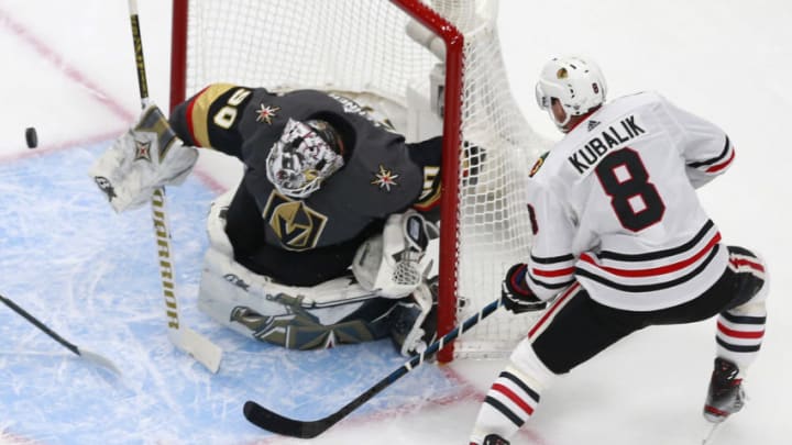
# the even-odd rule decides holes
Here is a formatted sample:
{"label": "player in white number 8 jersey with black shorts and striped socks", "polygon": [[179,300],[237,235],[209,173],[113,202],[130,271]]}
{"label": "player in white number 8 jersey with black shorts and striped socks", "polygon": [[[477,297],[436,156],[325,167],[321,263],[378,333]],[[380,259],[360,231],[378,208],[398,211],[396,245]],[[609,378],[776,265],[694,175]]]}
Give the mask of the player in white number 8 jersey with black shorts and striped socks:
{"label": "player in white number 8 jersey with black shorts and striped socks", "polygon": [[530,171],[534,243],[503,283],[504,305],[544,310],[487,392],[471,444],[508,444],[560,375],[632,332],[717,316],[704,403],[740,410],[765,332],[765,263],[722,243],[696,189],[732,165],[716,125],[653,92],[605,103],[598,67],[550,60],[537,101],[565,136]]}

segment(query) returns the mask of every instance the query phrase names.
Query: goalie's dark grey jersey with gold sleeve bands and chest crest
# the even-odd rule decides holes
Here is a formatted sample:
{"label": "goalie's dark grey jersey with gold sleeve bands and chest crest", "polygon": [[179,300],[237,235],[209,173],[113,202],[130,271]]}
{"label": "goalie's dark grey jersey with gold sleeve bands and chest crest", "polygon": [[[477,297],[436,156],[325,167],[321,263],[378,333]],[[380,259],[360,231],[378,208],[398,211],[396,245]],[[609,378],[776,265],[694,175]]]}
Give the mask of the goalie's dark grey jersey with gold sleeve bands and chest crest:
{"label": "goalie's dark grey jersey with gold sleeve bands and chest crest", "polygon": [[[289,119],[329,122],[349,151],[344,166],[302,200],[279,193],[265,170]],[[439,202],[440,137],[406,144],[344,97],[216,84],[179,104],[170,124],[185,143],[244,163],[226,232],[239,263],[286,285],[345,274],[358,246],[389,214],[410,207],[428,212]]]}

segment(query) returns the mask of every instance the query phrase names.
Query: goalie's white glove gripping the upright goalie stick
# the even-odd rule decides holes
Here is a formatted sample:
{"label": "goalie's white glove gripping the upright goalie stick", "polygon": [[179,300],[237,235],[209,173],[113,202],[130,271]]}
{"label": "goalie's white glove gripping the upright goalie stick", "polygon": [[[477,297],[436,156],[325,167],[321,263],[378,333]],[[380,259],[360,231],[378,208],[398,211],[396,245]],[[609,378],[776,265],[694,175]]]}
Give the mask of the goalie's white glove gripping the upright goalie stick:
{"label": "goalie's white glove gripping the upright goalie stick", "polygon": [[163,112],[150,103],[89,175],[120,213],[148,202],[160,187],[182,183],[197,159],[198,149],[186,146]]}

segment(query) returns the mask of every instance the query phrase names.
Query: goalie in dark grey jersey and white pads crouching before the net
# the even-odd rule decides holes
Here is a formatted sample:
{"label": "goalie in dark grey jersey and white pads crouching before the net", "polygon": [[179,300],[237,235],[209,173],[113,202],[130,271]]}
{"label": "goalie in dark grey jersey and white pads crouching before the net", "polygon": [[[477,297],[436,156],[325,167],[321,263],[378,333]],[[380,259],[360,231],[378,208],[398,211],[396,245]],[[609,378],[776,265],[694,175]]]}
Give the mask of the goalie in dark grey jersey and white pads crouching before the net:
{"label": "goalie in dark grey jersey and white pads crouching before the net", "polygon": [[200,310],[296,349],[392,337],[411,355],[433,340],[440,136],[406,143],[336,93],[215,84],[169,120],[144,109],[90,175],[122,212],[184,181],[204,149],[244,174],[211,204]]}

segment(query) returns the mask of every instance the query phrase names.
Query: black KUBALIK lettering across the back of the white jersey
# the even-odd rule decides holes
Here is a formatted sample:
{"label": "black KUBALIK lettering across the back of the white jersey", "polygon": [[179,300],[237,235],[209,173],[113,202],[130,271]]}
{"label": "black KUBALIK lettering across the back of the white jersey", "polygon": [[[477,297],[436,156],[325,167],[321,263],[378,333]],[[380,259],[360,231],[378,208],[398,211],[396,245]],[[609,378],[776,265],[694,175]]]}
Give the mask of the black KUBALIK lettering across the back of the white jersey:
{"label": "black KUBALIK lettering across the back of the white jersey", "polygon": [[578,149],[568,159],[579,174],[585,175],[600,159],[615,148],[646,133],[645,125],[635,114],[619,120],[617,124],[608,126],[598,136],[588,140],[583,148]]}

